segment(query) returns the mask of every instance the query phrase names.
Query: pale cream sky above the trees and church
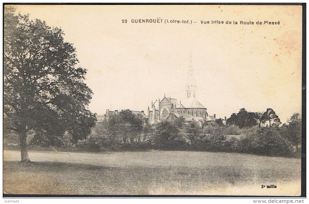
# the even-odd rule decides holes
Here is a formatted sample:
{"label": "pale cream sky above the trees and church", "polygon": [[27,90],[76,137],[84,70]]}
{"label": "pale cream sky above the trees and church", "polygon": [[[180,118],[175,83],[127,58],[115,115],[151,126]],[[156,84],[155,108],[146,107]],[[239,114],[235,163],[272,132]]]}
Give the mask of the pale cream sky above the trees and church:
{"label": "pale cream sky above the trees and church", "polygon": [[301,6],[14,7],[30,14],[30,19],[61,27],[64,40],[76,48],[78,66],[87,69],[85,82],[94,93],[89,109],[97,114],[106,109],[146,112],[151,101],[162,100],[164,94],[184,98],[190,54],[196,98],[208,114],[229,118],[240,108],[251,112],[273,108],[284,123],[293,113],[301,113]]}

